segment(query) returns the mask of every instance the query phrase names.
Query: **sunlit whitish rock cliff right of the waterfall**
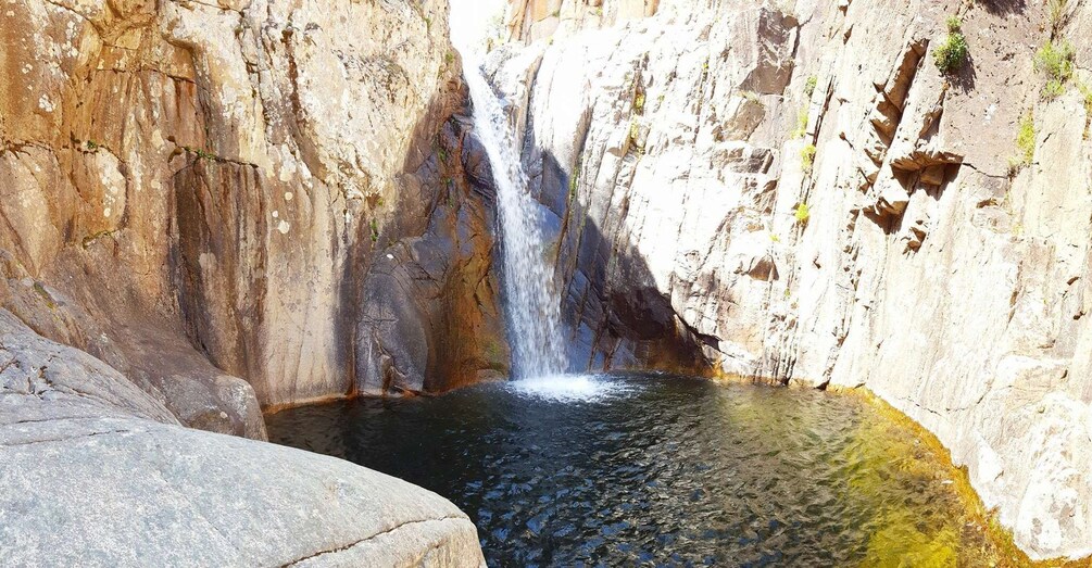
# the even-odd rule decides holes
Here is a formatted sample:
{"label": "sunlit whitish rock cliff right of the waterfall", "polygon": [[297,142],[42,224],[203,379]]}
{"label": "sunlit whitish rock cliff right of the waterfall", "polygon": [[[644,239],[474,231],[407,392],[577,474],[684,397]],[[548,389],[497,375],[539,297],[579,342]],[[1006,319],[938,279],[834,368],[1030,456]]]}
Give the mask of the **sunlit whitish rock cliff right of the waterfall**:
{"label": "sunlit whitish rock cliff right of the waterfall", "polygon": [[[1032,557],[1092,553],[1090,76],[1041,98],[1045,9],[629,4],[513,2],[525,45],[490,63],[579,364],[865,386],[938,435]],[[942,74],[956,14],[971,57]],[[1071,4],[1056,36],[1090,26]],[[1029,113],[1034,157],[1010,175]]]}

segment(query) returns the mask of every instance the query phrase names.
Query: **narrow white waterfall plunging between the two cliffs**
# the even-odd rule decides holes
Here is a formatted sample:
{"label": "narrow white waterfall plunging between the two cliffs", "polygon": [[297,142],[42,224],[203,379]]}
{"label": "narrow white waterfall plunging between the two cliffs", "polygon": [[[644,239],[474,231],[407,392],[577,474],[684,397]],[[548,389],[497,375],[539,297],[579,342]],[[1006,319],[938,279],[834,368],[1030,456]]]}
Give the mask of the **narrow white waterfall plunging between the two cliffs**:
{"label": "narrow white waterfall plunging between the two cliffs", "polygon": [[557,375],[567,367],[560,301],[554,292],[553,267],[545,258],[541,205],[527,188],[503,104],[482,70],[484,11],[477,0],[456,0],[451,13],[452,43],[463,57],[474,104],[474,131],[485,146],[497,187],[512,374],[515,378]]}

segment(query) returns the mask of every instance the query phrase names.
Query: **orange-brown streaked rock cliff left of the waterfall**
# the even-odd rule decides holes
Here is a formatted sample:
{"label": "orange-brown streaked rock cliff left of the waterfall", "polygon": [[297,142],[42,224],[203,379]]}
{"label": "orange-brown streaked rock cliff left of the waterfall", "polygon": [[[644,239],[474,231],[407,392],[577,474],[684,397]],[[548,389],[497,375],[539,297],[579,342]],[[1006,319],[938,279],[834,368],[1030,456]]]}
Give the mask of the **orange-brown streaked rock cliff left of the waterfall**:
{"label": "orange-brown streaked rock cliff left of the waterfall", "polygon": [[256,438],[260,406],[501,368],[447,10],[8,2],[0,303]]}

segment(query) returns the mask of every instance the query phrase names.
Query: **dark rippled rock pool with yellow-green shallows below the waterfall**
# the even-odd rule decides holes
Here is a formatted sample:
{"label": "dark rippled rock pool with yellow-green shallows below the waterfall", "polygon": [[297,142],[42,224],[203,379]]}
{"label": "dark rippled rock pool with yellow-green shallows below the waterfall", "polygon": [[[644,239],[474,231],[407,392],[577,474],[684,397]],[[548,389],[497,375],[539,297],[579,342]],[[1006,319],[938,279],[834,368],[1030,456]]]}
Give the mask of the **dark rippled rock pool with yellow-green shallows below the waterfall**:
{"label": "dark rippled rock pool with yellow-green shallows below the waterfall", "polygon": [[451,499],[490,566],[1008,564],[945,457],[857,397],[630,375],[268,422]]}

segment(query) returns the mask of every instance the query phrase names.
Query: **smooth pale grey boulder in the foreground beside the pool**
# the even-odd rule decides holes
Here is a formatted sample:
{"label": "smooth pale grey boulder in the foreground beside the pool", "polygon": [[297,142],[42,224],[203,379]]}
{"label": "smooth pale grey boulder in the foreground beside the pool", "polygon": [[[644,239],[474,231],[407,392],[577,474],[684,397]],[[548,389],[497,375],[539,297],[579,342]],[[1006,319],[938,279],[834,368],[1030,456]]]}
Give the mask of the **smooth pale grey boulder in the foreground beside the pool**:
{"label": "smooth pale grey boulder in the foreground beside the pool", "polygon": [[484,566],[442,497],[348,462],[180,426],[0,310],[0,564]]}

